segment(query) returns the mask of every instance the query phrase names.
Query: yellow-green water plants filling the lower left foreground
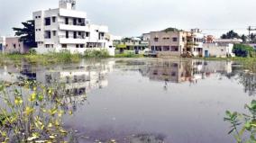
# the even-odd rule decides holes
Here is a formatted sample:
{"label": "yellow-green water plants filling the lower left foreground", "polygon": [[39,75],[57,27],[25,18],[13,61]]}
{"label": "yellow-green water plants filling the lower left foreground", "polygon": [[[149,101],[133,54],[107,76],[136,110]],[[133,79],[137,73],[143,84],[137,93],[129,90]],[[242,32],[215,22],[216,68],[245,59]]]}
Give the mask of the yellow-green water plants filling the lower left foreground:
{"label": "yellow-green water plants filling the lower left foreground", "polygon": [[6,85],[0,84],[1,142],[65,142],[65,85],[49,87],[30,81]]}

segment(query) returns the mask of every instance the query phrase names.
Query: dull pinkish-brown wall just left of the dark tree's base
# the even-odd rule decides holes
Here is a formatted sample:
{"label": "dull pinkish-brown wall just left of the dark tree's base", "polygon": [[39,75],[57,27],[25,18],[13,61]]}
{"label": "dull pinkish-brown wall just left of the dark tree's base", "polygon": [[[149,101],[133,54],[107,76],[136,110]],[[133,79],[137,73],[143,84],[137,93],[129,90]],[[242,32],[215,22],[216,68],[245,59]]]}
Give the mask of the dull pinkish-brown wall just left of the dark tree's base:
{"label": "dull pinkish-brown wall just left of the dark tree's base", "polygon": [[27,53],[29,48],[19,40],[19,37],[10,37],[5,39],[5,53]]}

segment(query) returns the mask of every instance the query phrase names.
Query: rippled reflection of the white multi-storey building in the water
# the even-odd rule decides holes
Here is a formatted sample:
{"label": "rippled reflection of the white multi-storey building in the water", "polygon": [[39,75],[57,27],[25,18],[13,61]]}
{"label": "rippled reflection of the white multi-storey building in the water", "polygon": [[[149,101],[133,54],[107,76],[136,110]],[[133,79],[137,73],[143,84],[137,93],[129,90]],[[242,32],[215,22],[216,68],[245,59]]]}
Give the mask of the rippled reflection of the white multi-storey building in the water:
{"label": "rippled reflection of the white multi-storey building in the water", "polygon": [[37,71],[36,80],[44,85],[65,84],[70,95],[87,94],[93,89],[108,85],[106,75],[112,70],[113,62],[94,66],[55,67]]}

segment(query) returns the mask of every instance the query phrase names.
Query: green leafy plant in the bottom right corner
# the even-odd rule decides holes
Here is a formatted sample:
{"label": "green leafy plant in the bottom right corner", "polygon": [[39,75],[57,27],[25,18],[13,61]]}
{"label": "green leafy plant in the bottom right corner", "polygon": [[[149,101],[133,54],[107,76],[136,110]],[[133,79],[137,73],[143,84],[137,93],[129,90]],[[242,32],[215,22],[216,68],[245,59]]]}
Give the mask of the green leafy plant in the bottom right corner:
{"label": "green leafy plant in the bottom right corner", "polygon": [[[231,130],[229,134],[233,133],[234,139],[237,143],[244,142],[256,142],[256,101],[251,101],[251,104],[246,104],[245,108],[249,111],[248,114],[238,112],[226,112],[224,121],[228,121],[231,124]],[[246,138],[246,134],[250,134],[250,139]]]}

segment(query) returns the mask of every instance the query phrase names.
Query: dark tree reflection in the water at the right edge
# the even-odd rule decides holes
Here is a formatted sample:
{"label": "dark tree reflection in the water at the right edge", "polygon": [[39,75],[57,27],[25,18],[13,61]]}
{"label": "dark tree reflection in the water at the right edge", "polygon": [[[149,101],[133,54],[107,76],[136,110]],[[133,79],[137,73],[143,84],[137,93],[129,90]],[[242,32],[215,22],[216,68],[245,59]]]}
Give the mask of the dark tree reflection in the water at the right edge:
{"label": "dark tree reflection in the water at the right edge", "polygon": [[239,83],[244,86],[244,92],[249,95],[256,94],[256,75],[250,73],[241,73]]}

